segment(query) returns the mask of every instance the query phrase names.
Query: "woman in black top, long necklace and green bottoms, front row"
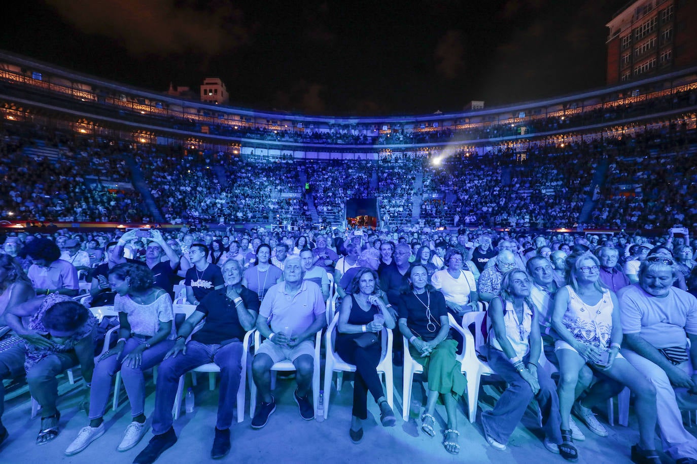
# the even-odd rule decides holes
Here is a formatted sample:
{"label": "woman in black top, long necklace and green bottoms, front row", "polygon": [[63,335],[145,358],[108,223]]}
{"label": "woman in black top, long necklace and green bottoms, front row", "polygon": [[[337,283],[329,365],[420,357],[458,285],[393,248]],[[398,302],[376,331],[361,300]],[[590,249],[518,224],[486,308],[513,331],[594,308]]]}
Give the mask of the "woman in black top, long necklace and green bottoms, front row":
{"label": "woman in black top, long necklace and green bottoms, front row", "polygon": [[434,436],[436,419],[434,410],[438,397],[443,395],[447,414],[447,429],[443,446],[451,454],[460,451],[457,440],[457,397],[464,393],[465,376],[455,358],[457,342],[448,336],[450,325],[447,319],[445,298],[428,284],[428,272],[422,264],[409,270],[410,289],[399,301],[399,330],[409,341],[409,353],[424,367],[428,381],[426,411],[421,416],[421,429]]}

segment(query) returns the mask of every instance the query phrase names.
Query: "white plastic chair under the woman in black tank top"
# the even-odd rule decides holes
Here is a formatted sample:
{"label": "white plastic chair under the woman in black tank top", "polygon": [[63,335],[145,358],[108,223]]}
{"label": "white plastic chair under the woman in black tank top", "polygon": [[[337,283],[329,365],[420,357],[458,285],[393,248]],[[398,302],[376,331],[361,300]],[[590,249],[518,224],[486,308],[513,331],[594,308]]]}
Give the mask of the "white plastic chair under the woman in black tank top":
{"label": "white plastic chair under the woman in black tank top", "polygon": [[[334,315],[332,323],[330,323],[327,328],[327,333],[325,333],[325,346],[326,346],[326,359],[324,364],[324,418],[326,419],[329,414],[329,399],[330,392],[332,388],[332,378],[334,377],[334,372],[337,372],[337,376],[343,372],[355,372],[355,365],[348,364],[348,362],[342,360],[341,357],[334,351],[334,344],[337,338],[337,324],[339,323],[339,313]],[[383,374],[385,376],[385,394],[388,400],[390,408],[394,406],[394,388],[395,383],[392,378],[392,330],[383,327],[382,334],[382,353],[380,355],[380,362],[376,367],[378,374]],[[341,390],[341,382],[337,378],[337,391]]]}

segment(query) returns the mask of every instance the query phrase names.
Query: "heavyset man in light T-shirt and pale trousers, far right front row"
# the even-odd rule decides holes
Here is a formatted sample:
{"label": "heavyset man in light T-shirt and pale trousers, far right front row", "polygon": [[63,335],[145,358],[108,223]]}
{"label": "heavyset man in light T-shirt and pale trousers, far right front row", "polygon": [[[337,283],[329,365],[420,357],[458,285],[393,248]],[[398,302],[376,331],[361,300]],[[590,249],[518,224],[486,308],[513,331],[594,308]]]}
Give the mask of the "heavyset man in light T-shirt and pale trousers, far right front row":
{"label": "heavyset man in light T-shirt and pale trousers, far right front row", "polygon": [[688,464],[697,463],[697,438],[684,429],[680,410],[697,409],[697,298],[673,287],[674,272],[671,257],[651,255],[638,282],[620,290],[622,355],[656,389],[664,451]]}

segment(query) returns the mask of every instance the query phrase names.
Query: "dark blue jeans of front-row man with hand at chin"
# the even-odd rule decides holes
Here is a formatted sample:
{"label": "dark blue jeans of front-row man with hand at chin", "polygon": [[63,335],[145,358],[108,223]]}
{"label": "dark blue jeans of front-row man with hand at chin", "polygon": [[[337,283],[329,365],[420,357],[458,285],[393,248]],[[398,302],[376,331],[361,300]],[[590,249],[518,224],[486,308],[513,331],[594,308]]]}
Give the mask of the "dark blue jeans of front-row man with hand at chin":
{"label": "dark blue jeans of front-row man with hand at chin", "polygon": [[155,387],[155,413],[153,414],[153,433],[160,435],[172,426],[172,408],[176,397],[179,378],[194,367],[215,362],[220,367],[220,397],[216,427],[229,429],[232,425],[233,409],[237,401],[237,389],[242,375],[242,342],[226,345],[203,344],[190,341],[186,344],[186,354],[179,353],[174,358],[162,361],[158,369],[158,384]]}

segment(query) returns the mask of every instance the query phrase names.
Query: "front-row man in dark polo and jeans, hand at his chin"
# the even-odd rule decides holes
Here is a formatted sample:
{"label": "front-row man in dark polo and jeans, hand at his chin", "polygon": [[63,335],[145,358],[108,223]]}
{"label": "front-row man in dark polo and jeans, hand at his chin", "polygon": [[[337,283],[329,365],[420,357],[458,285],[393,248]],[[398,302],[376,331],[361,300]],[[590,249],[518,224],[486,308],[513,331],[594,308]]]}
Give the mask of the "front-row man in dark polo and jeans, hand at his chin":
{"label": "front-row man in dark polo and jeans, hand at his chin", "polygon": [[[254,328],[259,313],[259,296],[242,286],[242,269],[235,259],[223,264],[222,273],[227,287],[211,291],[204,297],[177,331],[174,347],[158,368],[153,413],[155,436],[134,463],[153,463],[162,451],[176,443],[171,411],[179,377],[208,362],[215,362],[220,367],[220,397],[210,457],[220,459],[230,451],[232,411],[236,407],[242,370],[242,340],[247,330]],[[204,317],[204,326],[186,342]]]}

